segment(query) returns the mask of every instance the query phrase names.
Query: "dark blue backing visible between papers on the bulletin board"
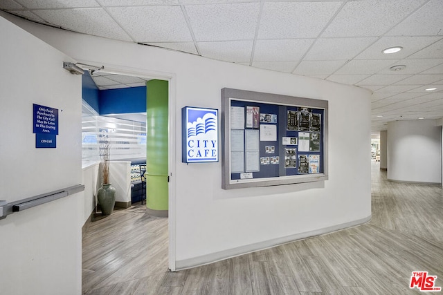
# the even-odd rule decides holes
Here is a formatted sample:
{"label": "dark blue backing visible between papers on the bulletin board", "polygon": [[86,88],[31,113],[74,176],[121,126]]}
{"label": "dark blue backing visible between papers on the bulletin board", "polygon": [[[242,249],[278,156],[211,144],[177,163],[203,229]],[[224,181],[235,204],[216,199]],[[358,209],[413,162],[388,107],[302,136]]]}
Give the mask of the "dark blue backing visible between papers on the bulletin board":
{"label": "dark blue backing visible between papers on the bulletin board", "polygon": [[[265,103],[257,103],[257,102],[247,102],[247,101],[240,101],[240,100],[230,100],[230,106],[240,106],[245,109],[245,117],[246,117],[246,106],[257,106],[260,108],[260,114],[269,114],[269,115],[277,115],[277,122],[276,123],[260,123],[260,124],[274,124],[277,128],[277,141],[260,141],[260,159],[261,158],[275,158],[278,157],[278,164],[262,164],[260,162],[260,171],[253,172],[253,178],[274,178],[274,177],[280,177],[285,175],[305,175],[306,173],[299,173],[298,171],[298,155],[307,155],[309,158],[309,155],[320,155],[320,162],[319,162],[319,168],[318,173],[324,173],[324,157],[323,157],[323,136],[322,133],[324,132],[324,110],[322,108],[310,108],[310,113],[314,114],[320,114],[321,121],[320,121],[320,151],[298,151],[298,144],[297,145],[284,145],[283,144],[283,137],[297,137],[298,133],[300,132],[307,132],[311,133],[311,131],[288,131],[287,130],[287,123],[288,123],[288,111],[300,111],[301,107],[299,106],[284,106],[279,104],[265,104]],[[246,124],[245,124],[246,125]],[[246,128],[245,130],[249,130],[250,128]],[[260,129],[255,129],[260,130]],[[273,146],[273,153],[266,153],[266,146],[268,146],[267,151],[269,151],[269,147]],[[293,168],[288,168],[285,165],[284,155],[285,155],[285,148],[287,149],[296,149],[296,166]],[[310,175],[314,175],[310,173]],[[240,173],[231,173],[230,174],[231,180],[239,180],[240,179]]]}

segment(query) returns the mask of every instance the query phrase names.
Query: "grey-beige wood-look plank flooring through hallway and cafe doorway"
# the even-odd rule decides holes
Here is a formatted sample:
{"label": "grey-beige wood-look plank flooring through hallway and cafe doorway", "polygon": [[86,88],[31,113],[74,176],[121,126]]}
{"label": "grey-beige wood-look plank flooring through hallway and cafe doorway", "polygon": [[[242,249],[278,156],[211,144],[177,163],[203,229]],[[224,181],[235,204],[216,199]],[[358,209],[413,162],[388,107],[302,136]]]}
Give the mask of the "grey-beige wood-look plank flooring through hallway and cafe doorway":
{"label": "grey-beige wood-look plank flooring through hallway and cafe doorway", "polygon": [[443,287],[443,191],[388,182],[372,162],[367,224],[174,273],[168,220],[135,206],[91,223],[82,265],[84,294],[423,294],[413,271]]}

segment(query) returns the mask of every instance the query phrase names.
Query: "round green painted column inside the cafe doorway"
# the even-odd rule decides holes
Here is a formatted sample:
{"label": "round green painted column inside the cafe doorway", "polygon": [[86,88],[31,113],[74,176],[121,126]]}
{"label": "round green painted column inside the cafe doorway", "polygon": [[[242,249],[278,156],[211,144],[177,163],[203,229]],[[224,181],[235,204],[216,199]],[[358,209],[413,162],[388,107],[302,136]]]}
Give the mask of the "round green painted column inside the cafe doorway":
{"label": "round green painted column inside the cafe doorway", "polygon": [[146,83],[146,207],[168,216],[168,81]]}

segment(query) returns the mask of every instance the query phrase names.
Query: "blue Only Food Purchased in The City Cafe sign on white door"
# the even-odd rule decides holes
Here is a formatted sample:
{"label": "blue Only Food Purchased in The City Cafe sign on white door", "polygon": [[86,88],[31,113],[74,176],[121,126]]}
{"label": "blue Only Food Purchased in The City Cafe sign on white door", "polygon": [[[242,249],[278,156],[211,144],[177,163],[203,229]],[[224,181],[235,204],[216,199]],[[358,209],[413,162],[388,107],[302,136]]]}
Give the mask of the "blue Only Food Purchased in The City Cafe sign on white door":
{"label": "blue Only Food Purchased in The City Cafe sign on white door", "polygon": [[58,135],[58,109],[33,104],[33,133],[37,149],[55,148]]}

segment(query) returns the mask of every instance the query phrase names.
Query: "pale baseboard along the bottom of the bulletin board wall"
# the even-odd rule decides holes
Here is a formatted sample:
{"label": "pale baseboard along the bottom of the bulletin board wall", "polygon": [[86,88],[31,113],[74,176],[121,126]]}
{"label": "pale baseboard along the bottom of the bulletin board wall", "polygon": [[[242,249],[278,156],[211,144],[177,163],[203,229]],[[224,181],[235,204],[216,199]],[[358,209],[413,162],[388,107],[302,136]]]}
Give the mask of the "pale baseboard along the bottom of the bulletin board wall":
{"label": "pale baseboard along the bottom of the bulletin board wall", "polygon": [[340,225],[334,225],[332,227],[325,227],[323,229],[317,229],[315,231],[307,231],[301,234],[294,234],[291,236],[284,236],[282,238],[275,238],[273,240],[266,240],[263,242],[256,242],[254,244],[245,245],[242,247],[236,247],[233,249],[227,249],[224,251],[215,252],[212,254],[206,254],[203,256],[198,256],[194,258],[188,258],[183,260],[177,260],[175,262],[176,271],[188,269],[192,267],[198,267],[201,265],[207,265],[210,263],[215,263],[219,260],[224,260],[228,258],[232,258],[239,255],[248,254],[255,251],[260,251],[263,249],[275,247],[278,245],[286,244],[287,242],[293,242],[296,240],[302,240],[304,238],[309,238],[313,236],[320,236],[323,234],[330,234],[334,231],[338,231],[341,229],[347,229],[349,227],[355,227],[357,225],[363,225],[363,223],[369,222],[372,218],[372,215],[362,218],[359,220],[354,220],[350,222],[345,222]]}

